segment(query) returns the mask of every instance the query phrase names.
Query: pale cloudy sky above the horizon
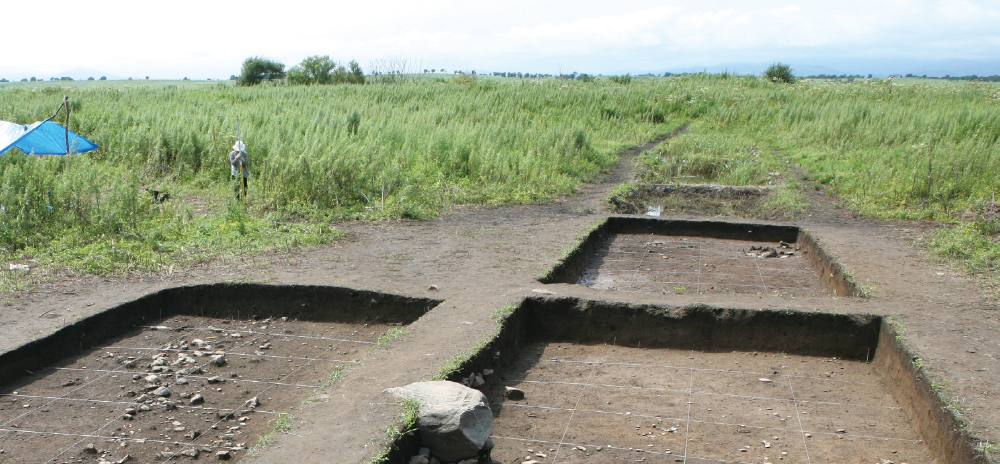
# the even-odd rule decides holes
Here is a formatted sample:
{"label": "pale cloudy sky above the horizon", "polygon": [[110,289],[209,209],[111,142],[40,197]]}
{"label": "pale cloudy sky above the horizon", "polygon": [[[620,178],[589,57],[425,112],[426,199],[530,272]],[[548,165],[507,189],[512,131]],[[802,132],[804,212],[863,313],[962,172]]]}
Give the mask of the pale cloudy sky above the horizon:
{"label": "pale cloudy sky above the horizon", "polygon": [[996,0],[49,0],[4,2],[2,11],[0,77],[8,79],[74,68],[227,78],[253,55],[289,66],[330,55],[366,71],[402,57],[419,69],[549,74],[1000,62]]}

